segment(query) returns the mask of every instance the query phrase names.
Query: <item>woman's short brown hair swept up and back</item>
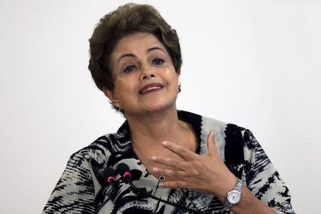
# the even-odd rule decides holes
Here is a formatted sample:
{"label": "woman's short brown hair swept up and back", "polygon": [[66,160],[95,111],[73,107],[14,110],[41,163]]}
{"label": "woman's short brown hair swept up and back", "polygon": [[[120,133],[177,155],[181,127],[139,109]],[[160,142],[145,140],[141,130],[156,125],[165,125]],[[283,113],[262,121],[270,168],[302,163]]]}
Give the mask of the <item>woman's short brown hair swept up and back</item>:
{"label": "woman's short brown hair swept up and back", "polygon": [[103,91],[106,87],[113,91],[111,53],[117,42],[128,34],[143,31],[154,34],[165,46],[173,61],[175,71],[180,70],[182,56],[175,29],[163,19],[161,14],[147,4],[125,4],[103,16],[89,39],[89,71],[96,86]]}

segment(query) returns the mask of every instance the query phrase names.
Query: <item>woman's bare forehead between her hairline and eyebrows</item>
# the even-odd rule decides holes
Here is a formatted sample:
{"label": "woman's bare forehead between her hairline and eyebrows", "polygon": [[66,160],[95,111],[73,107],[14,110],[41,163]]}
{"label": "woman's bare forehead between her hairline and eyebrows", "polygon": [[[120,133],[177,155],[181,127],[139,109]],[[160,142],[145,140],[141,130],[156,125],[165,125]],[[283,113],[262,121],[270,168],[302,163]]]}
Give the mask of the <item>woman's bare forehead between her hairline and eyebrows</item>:
{"label": "woman's bare forehead between her hairline and eyebrows", "polygon": [[135,54],[139,52],[146,52],[148,49],[158,46],[161,49],[165,49],[161,41],[150,33],[138,32],[124,36],[115,46],[113,50],[113,57],[117,57],[121,54]]}

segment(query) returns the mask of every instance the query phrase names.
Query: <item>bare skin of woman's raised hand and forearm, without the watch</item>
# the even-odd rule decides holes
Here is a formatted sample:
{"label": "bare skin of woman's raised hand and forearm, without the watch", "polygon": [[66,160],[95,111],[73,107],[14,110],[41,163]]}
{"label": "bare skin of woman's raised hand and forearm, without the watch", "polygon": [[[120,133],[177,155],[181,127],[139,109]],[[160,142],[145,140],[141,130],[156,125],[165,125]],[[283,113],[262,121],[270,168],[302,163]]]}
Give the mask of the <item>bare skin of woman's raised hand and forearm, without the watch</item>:
{"label": "bare skin of woman's raised hand and forearm, without the watch", "polygon": [[[161,187],[198,190],[216,195],[222,202],[225,202],[226,194],[234,188],[236,178],[218,155],[213,131],[210,131],[208,135],[208,153],[205,156],[200,156],[188,151],[183,146],[177,146],[168,141],[163,141],[162,145],[180,156],[181,160],[161,156],[151,157],[152,161],[173,168],[170,170],[153,168],[155,173],[163,173],[163,175],[171,175],[175,178],[161,183]],[[275,210],[255,198],[245,186],[243,186],[240,203],[232,206],[231,210],[233,213],[276,213]]]}

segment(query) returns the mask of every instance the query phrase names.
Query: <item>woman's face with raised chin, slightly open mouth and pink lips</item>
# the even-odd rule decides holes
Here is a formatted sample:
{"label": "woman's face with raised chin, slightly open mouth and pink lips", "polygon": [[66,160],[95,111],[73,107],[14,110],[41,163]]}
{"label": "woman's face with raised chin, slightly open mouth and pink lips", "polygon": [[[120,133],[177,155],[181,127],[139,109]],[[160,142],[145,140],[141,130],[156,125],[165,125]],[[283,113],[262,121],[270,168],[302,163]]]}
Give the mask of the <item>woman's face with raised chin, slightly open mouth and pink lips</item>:
{"label": "woman's face with raised chin, slightly open mouth and pink lips", "polygon": [[111,54],[115,88],[104,93],[126,116],[175,108],[178,73],[156,36],[124,36]]}

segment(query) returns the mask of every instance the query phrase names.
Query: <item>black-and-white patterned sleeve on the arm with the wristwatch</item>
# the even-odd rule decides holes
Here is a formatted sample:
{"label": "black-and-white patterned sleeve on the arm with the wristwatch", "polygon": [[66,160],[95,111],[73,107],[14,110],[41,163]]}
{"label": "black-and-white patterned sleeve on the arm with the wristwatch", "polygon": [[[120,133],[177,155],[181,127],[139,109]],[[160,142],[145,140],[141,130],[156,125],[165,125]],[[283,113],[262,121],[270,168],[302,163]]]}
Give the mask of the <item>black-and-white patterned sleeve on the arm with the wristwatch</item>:
{"label": "black-and-white patterned sleeve on the arm with the wristwatch", "polygon": [[[246,130],[244,133],[245,148],[252,151],[248,154],[249,169],[246,180],[248,189],[256,198],[263,201],[278,214],[295,213],[291,205],[290,191],[280,178],[265,151],[253,136]],[[245,152],[246,153],[246,152]]]}

